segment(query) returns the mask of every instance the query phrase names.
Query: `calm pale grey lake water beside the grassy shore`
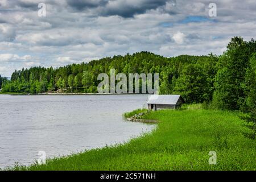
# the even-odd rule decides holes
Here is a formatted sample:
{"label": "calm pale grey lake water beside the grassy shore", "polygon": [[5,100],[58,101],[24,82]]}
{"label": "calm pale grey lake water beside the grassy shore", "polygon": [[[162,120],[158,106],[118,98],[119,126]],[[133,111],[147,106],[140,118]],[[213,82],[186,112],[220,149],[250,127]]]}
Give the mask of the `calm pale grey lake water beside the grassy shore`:
{"label": "calm pale grey lake water beside the grassy shore", "polygon": [[0,168],[106,144],[126,142],[155,126],[123,120],[122,113],[143,107],[147,95],[0,95]]}

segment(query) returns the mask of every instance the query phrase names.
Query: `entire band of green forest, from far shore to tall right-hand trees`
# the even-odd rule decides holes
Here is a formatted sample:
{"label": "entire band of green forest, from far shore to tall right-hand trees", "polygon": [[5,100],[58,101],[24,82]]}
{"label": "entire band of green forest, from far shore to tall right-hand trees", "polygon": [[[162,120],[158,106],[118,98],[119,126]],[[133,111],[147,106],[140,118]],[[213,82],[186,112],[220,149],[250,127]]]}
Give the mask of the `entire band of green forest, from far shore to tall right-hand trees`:
{"label": "entire band of green forest, from far shore to tall right-hand trees", "polygon": [[97,93],[100,73],[159,73],[160,94],[181,94],[187,103],[221,109],[256,107],[256,42],[234,37],[221,56],[163,57],[150,52],[105,57],[60,68],[32,67],[0,76],[2,93]]}

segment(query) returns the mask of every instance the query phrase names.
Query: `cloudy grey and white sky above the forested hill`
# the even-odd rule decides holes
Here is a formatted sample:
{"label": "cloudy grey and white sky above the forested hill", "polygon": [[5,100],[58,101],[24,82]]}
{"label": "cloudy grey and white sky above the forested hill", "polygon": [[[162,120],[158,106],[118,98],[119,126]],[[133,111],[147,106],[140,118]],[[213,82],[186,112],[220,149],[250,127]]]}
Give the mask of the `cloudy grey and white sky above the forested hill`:
{"label": "cloudy grey and white sky above the forested hill", "polygon": [[220,55],[233,36],[255,32],[255,0],[0,0],[0,74],[127,52]]}

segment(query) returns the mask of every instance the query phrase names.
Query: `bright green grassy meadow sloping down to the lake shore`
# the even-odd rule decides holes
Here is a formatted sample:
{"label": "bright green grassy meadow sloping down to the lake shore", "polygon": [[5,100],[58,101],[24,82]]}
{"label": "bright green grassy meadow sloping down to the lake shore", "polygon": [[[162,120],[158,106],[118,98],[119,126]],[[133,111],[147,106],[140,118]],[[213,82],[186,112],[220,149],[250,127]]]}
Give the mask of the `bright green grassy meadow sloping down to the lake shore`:
{"label": "bright green grassy meadow sloping down to the lake shore", "polygon": [[[200,107],[150,112],[158,119],[152,133],[118,146],[94,149],[47,164],[15,170],[255,170],[255,140],[238,113]],[[134,111],[137,113],[138,111]],[[127,114],[129,115],[129,114]],[[209,165],[209,151],[217,164]]]}

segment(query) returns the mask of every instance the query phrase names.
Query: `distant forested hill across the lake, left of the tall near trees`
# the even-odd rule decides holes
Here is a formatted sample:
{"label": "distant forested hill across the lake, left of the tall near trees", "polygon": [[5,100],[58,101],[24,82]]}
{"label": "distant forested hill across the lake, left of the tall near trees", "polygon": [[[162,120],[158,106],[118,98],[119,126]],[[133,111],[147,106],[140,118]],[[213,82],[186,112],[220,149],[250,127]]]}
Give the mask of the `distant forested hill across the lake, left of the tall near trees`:
{"label": "distant forested hill across the lake, left of the tall near trees", "polygon": [[[195,85],[193,93],[185,93],[188,99],[192,95],[198,95],[196,102],[210,100],[212,92],[205,90],[201,95],[201,87],[213,87],[213,78],[216,75],[216,64],[218,57],[210,56],[188,56],[166,58],[150,52],[138,52],[133,55],[106,57],[93,60],[89,63],[72,64],[57,69],[33,67],[15,71],[11,76],[11,82],[3,86],[3,92],[20,93],[44,93],[61,90],[63,92],[86,92],[96,93],[100,81],[97,76],[100,73],[110,75],[110,69],[114,68],[116,73],[159,73],[160,92],[168,94],[172,92],[183,92],[190,84]],[[186,85],[184,75],[189,77],[189,85]],[[198,78],[198,81],[196,81]],[[208,80],[207,82],[202,80]]]}

